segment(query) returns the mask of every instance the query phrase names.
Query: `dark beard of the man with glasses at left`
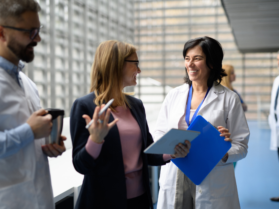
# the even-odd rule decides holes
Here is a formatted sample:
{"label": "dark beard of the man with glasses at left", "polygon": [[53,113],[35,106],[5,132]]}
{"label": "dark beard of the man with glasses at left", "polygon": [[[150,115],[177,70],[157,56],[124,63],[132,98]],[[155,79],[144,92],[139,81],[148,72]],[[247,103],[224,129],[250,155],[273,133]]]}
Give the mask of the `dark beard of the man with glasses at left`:
{"label": "dark beard of the man with glasses at left", "polygon": [[31,62],[34,59],[34,51],[28,51],[29,46],[37,46],[37,42],[31,42],[22,46],[14,38],[8,43],[8,48],[22,61]]}

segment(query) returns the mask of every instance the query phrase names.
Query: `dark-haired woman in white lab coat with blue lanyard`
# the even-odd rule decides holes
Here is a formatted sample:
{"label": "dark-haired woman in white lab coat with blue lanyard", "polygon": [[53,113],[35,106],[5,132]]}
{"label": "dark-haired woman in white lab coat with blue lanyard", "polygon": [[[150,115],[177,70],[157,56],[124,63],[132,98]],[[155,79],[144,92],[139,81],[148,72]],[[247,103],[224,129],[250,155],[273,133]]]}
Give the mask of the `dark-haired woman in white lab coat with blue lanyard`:
{"label": "dark-haired woman in white lab coat with blue lanyard", "polygon": [[220,136],[225,136],[232,147],[200,185],[195,185],[172,162],[162,166],[157,208],[240,208],[233,162],[246,157],[250,132],[238,95],[220,85],[226,76],[222,46],[207,36],[191,39],[185,43],[183,57],[185,84],[166,96],[154,141],[172,128],[187,129],[196,115],[201,115],[218,127]]}

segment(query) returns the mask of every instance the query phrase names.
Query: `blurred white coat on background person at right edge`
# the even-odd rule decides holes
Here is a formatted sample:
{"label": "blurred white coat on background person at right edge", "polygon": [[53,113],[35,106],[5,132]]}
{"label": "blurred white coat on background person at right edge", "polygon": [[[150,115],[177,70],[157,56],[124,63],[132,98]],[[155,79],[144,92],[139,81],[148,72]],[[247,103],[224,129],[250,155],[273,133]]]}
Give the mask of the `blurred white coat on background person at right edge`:
{"label": "blurred white coat on background person at right edge", "polygon": [[271,90],[271,102],[270,102],[270,111],[268,116],[268,124],[270,126],[270,150],[278,150],[279,147],[279,102],[277,102],[276,115],[277,122],[274,114],[274,105],[277,89],[279,87],[279,76],[277,76],[273,82]]}

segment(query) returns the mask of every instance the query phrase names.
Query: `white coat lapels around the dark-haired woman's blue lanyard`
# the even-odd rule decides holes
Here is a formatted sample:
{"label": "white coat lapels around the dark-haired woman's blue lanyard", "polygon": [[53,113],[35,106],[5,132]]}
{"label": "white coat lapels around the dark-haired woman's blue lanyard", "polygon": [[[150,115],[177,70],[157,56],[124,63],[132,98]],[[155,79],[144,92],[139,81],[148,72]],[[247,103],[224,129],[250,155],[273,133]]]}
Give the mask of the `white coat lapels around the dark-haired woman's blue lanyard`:
{"label": "white coat lapels around the dark-haired woman's blue lanyard", "polygon": [[[183,110],[185,110],[185,106],[186,106],[186,101],[187,101],[187,97],[188,97],[188,93],[189,93],[189,88],[190,86],[188,84],[184,84],[182,86],[179,86],[177,88],[175,88],[177,91],[181,92],[181,96],[182,96],[182,105],[183,105]],[[213,82],[213,85],[211,87],[211,89],[209,90],[207,97],[205,98],[204,102],[201,105],[201,108],[199,109],[199,112],[205,107],[207,106],[209,103],[211,103],[213,100],[215,100],[218,95],[220,93],[224,93],[224,89],[223,86],[221,84],[218,84],[217,81]],[[184,98],[183,98],[184,97]],[[185,103],[185,104],[184,104]]]}

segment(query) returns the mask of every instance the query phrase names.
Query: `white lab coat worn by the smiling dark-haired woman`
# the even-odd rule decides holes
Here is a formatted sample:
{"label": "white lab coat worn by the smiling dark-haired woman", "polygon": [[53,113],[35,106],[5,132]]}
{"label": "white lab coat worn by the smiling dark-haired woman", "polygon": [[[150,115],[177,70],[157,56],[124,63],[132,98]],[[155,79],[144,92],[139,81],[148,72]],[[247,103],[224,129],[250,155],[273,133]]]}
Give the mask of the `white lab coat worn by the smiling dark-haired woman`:
{"label": "white lab coat worn by the smiling dark-haired woman", "polygon": [[[240,208],[233,162],[246,157],[250,132],[238,95],[215,84],[197,115],[203,116],[215,127],[228,128],[233,142],[228,151],[228,160],[225,163],[220,161],[201,184],[196,186],[196,209]],[[189,85],[184,84],[167,94],[153,134],[154,141],[159,140],[170,129],[178,128],[178,121],[185,112],[188,93]],[[174,208],[176,173],[177,167],[172,162],[161,167],[158,209]]]}

